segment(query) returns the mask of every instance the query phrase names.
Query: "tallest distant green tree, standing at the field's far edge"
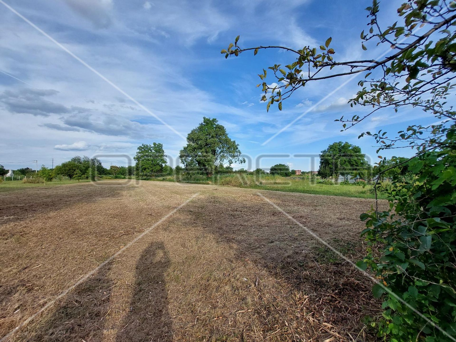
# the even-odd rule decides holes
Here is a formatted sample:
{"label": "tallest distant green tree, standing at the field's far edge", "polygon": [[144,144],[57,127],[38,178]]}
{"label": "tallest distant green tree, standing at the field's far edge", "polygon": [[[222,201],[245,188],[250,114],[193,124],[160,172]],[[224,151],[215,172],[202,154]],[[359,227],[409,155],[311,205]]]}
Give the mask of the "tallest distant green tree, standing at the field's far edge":
{"label": "tallest distant green tree, standing at the field's far edge", "polygon": [[179,154],[187,170],[210,177],[223,166],[245,163],[239,144],[231,140],[225,127],[217,122],[217,119],[204,117],[202,123],[187,135],[188,144]]}

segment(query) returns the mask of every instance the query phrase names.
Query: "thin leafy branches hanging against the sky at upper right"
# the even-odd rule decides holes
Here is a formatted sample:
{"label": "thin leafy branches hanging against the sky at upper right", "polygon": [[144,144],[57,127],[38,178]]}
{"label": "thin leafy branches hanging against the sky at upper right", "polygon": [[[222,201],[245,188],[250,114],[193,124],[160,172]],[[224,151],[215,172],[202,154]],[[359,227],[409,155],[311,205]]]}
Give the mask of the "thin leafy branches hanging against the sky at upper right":
{"label": "thin leafy branches hanging against the sky at upper right", "polygon": [[[263,69],[258,75],[262,83],[257,87],[264,92],[262,100],[267,102],[267,110],[275,103],[281,110],[283,100],[310,82],[359,73],[363,77],[358,83],[361,90],[349,104],[352,107],[358,104],[372,106],[372,110],[362,117],[354,115],[349,119],[338,119],[344,123],[344,130],[387,107],[395,111],[401,106],[420,107],[440,118],[455,119],[452,107],[444,109],[442,106],[442,101],[454,87],[451,82],[456,71],[456,36],[451,28],[456,20],[455,2],[409,0],[397,10],[402,24],[396,21],[386,28],[378,22],[378,1],[374,0],[367,10],[370,22],[368,30],[360,34],[361,47],[363,50],[373,44],[385,47],[385,51],[391,51],[387,57],[337,61],[334,57],[336,51],[330,47],[331,37],[320,47],[305,46],[295,50],[283,46],[244,48],[239,46],[237,36],[234,44],[230,43],[221,53],[228,58],[247,51],[256,55],[262,49],[282,49],[295,55],[288,65],[275,64],[267,68],[272,71],[278,85],[266,83],[268,70]],[[422,129],[433,130],[431,127]],[[390,147],[399,140],[385,140],[383,137],[378,142],[383,147]]]}

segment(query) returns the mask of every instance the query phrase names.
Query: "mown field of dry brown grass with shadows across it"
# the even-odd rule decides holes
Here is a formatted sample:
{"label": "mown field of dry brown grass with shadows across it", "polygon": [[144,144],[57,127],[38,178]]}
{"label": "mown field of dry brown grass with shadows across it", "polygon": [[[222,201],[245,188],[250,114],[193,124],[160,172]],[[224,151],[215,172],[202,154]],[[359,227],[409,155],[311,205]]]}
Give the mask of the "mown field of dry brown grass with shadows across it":
{"label": "mown field of dry brown grass with shadows across it", "polygon": [[[359,214],[373,200],[260,193],[349,259],[363,255]],[[363,324],[379,312],[370,281],[257,190],[4,192],[0,244],[0,339],[20,326],[4,341],[375,340]]]}

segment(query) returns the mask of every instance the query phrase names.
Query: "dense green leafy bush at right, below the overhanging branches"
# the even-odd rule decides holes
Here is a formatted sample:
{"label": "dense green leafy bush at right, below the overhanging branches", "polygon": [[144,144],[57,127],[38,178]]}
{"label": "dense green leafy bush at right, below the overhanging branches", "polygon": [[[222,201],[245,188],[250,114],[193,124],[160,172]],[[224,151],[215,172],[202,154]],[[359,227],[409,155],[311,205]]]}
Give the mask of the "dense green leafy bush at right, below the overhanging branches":
{"label": "dense green leafy bush at right, below the overhanging branches", "polygon": [[[380,332],[398,341],[448,341],[456,337],[456,126],[446,132],[446,148],[425,151],[407,163],[409,175],[397,175],[388,190],[385,212],[369,212],[363,231],[374,249],[364,262],[388,288],[402,298],[384,294],[386,309]],[[383,295],[381,287],[377,295]],[[411,307],[410,307],[411,306]],[[391,326],[393,324],[393,326]],[[432,337],[432,338],[431,338]]]}

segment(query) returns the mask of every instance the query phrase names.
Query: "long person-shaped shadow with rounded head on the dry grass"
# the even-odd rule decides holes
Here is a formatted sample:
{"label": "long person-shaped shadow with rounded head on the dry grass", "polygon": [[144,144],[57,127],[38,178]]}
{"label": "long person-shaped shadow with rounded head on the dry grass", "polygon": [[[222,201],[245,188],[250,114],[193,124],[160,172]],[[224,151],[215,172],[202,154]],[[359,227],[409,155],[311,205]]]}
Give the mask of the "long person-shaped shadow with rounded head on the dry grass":
{"label": "long person-shaped shadow with rounded head on the dry grass", "polygon": [[136,264],[130,311],[119,324],[116,341],[172,341],[165,272],[170,257],[161,242],[150,244]]}

